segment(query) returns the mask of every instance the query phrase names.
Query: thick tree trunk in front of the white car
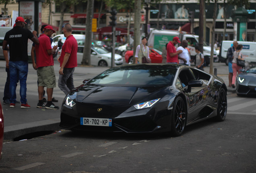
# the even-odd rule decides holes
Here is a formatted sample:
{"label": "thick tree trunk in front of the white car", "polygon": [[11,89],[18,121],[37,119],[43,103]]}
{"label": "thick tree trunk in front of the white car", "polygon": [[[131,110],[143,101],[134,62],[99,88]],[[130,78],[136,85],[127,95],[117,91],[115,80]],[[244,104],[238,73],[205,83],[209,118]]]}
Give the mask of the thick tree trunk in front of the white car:
{"label": "thick tree trunk in front of the white car", "polygon": [[91,40],[92,40],[92,23],[93,23],[93,6],[94,0],[87,1],[87,17],[85,30],[85,47],[83,53],[82,65],[91,65]]}

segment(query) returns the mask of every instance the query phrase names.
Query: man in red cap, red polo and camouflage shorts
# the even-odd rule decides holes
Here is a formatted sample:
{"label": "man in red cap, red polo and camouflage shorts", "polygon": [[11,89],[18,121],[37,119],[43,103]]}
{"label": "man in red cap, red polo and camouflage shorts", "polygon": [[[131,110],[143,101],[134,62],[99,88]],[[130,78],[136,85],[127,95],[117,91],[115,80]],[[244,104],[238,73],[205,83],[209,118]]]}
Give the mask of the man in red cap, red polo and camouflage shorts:
{"label": "man in red cap, red polo and camouflage shorts", "polygon": [[[56,87],[56,78],[54,73],[54,59],[52,54],[58,46],[52,48],[50,37],[55,32],[52,26],[45,26],[43,34],[38,38],[39,44],[35,45],[35,53],[37,57],[37,77],[38,77],[38,97],[39,102],[37,108],[45,107],[46,109],[59,109],[52,103],[52,93]],[[43,103],[43,89],[47,87],[47,104]]]}

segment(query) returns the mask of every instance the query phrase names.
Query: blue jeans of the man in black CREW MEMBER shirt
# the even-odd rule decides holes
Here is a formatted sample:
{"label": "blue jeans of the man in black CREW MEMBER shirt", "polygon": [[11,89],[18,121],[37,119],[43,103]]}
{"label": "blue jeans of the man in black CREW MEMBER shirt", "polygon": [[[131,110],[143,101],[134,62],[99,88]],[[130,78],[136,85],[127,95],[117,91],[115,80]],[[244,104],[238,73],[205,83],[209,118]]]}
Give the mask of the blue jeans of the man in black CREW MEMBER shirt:
{"label": "blue jeans of the man in black CREW MEMBER shirt", "polygon": [[21,104],[27,103],[27,73],[29,64],[27,61],[9,61],[10,70],[10,103],[16,103],[17,80],[20,80]]}

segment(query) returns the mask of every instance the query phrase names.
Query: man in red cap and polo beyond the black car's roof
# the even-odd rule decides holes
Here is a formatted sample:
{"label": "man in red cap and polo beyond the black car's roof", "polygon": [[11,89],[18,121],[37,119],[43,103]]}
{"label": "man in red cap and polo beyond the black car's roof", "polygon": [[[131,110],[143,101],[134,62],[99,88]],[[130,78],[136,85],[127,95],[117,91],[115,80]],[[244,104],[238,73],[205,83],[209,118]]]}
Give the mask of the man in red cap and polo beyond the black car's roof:
{"label": "man in red cap and polo beyond the black car's roof", "polygon": [[179,62],[178,54],[182,53],[182,50],[178,50],[176,52],[175,44],[178,44],[178,43],[180,43],[180,39],[179,39],[179,37],[175,36],[175,37],[173,37],[173,40],[167,44],[166,63],[178,64],[178,62]]}

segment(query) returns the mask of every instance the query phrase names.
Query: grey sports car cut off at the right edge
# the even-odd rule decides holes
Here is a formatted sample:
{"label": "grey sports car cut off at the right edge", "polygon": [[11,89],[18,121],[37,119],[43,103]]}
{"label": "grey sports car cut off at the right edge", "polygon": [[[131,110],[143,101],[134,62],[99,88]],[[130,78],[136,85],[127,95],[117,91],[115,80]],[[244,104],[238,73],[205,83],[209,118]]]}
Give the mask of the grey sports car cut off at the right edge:
{"label": "grey sports car cut off at the right edge", "polygon": [[236,78],[237,95],[256,95],[256,66],[241,71]]}

